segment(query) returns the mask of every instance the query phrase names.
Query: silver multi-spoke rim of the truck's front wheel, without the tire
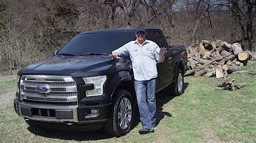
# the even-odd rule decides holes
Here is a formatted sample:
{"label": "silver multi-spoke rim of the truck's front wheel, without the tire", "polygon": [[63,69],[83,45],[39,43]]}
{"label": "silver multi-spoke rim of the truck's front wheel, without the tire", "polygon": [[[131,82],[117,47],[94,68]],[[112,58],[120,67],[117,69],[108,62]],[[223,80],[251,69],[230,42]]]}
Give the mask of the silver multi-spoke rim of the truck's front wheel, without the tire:
{"label": "silver multi-spoke rim of the truck's front wheel, without the tire", "polygon": [[132,104],[128,98],[123,98],[118,106],[117,113],[118,125],[125,130],[130,126],[132,120]]}

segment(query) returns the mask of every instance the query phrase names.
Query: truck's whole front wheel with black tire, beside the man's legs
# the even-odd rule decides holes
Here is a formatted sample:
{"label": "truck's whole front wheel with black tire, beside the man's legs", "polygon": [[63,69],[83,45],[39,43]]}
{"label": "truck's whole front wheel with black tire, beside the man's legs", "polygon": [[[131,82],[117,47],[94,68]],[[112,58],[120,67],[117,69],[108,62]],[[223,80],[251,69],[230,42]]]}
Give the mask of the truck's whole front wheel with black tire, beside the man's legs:
{"label": "truck's whole front wheel with black tire, beside the man's legs", "polygon": [[[112,101],[111,118],[104,124],[104,130],[110,135],[120,137],[131,130],[134,114],[133,100],[128,91],[117,90]],[[129,114],[125,114],[125,111]]]}

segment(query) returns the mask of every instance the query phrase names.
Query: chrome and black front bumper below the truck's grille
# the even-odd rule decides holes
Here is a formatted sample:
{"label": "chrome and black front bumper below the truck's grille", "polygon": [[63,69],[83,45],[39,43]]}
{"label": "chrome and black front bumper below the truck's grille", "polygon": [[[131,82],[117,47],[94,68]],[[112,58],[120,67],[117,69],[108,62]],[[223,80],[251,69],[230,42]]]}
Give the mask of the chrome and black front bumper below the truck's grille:
{"label": "chrome and black front bumper below the truck's grille", "polygon": [[[28,120],[63,124],[98,124],[109,120],[111,103],[90,106],[28,103],[14,100],[17,114]],[[97,111],[91,113],[91,111]]]}

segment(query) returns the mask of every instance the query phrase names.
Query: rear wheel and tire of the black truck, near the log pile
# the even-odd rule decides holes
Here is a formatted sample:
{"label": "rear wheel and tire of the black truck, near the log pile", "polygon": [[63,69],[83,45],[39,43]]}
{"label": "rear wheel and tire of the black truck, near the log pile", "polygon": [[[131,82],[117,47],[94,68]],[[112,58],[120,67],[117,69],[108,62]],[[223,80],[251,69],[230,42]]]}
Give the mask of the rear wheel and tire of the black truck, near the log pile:
{"label": "rear wheel and tire of the black truck, near the log pile", "polygon": [[169,85],[169,92],[174,93],[174,96],[180,96],[184,93],[184,75],[181,69],[177,70],[174,83]]}

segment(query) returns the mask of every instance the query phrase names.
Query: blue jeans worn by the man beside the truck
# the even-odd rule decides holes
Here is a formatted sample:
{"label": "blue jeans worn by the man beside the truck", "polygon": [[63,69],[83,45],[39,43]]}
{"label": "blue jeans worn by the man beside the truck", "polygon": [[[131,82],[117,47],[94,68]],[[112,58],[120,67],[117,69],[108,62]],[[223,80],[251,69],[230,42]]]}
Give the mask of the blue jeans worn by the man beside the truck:
{"label": "blue jeans worn by the man beside the truck", "polygon": [[143,128],[153,128],[156,126],[156,84],[157,78],[134,81],[139,107],[139,118],[142,121]]}

